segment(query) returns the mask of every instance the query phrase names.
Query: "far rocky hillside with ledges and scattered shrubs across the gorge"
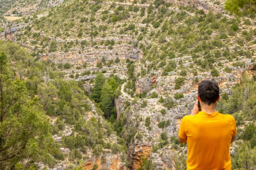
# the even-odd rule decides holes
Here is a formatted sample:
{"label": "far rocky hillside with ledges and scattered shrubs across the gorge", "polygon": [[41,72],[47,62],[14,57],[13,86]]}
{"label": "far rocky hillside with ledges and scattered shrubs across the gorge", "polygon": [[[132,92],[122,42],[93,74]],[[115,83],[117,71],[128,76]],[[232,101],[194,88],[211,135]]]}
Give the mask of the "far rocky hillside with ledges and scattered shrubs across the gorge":
{"label": "far rocky hillside with ledges and scattered shrubs across the gorge", "polygon": [[23,18],[20,23],[28,26],[15,33],[16,42],[57,64],[64,78],[75,74],[77,81],[86,80],[88,94],[96,71],[127,79],[115,105],[131,169],[139,169],[146,158],[156,170],[183,169],[186,147],[176,145],[175,136],[196,100],[198,82],[215,79],[230,95],[242,73],[254,69],[253,15],[230,16],[222,10],[223,1],[182,5],[67,1]]}

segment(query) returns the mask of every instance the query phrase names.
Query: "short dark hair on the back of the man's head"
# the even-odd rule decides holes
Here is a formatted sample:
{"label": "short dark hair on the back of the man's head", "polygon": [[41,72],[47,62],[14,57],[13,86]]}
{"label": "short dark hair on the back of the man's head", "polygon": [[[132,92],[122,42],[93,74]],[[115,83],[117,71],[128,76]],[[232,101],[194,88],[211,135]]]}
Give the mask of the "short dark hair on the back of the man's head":
{"label": "short dark hair on the back of the man's head", "polygon": [[213,80],[202,81],[198,86],[198,95],[202,102],[208,105],[215,103],[219,97],[218,83]]}

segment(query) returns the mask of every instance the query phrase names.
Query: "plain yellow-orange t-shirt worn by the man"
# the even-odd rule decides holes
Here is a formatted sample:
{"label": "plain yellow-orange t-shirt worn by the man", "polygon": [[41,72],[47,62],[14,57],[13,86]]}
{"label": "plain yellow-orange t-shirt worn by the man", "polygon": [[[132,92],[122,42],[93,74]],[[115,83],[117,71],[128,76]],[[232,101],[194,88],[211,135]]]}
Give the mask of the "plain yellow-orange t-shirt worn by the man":
{"label": "plain yellow-orange t-shirt worn by the man", "polygon": [[236,133],[235,119],[228,114],[183,117],[178,135],[187,138],[187,170],[231,170],[229,147]]}

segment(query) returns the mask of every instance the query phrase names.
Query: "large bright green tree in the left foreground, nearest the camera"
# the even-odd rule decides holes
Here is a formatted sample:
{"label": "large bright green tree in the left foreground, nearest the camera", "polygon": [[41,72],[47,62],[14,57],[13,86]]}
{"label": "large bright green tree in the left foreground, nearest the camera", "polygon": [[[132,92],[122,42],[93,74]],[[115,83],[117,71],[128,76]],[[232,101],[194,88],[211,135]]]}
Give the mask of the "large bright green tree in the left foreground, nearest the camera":
{"label": "large bright green tree in the left foreground, nearest the camera", "polygon": [[0,169],[52,165],[50,153],[56,148],[49,120],[37,100],[28,96],[25,81],[11,74],[14,68],[8,61],[0,51]]}

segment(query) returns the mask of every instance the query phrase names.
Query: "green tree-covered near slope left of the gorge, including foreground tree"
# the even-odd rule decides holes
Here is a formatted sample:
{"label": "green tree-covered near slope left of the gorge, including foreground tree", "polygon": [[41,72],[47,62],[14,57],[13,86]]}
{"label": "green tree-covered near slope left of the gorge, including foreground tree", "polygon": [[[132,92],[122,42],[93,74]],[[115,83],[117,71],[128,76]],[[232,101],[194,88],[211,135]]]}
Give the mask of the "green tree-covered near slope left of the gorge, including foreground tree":
{"label": "green tree-covered near slope left of the gorge, including foreground tree", "polygon": [[[115,133],[113,125],[102,120],[100,108],[92,110],[81,82],[63,80],[52,63],[35,61],[10,42],[0,41],[0,49],[1,169],[51,167],[66,156],[77,162],[86,158],[87,147],[96,157],[103,148],[123,152],[125,161],[123,139],[115,143],[108,138]],[[62,136],[67,127],[74,127],[73,134]],[[54,141],[54,134],[62,136],[61,143]],[[60,152],[62,146],[70,149],[69,155]]]}

